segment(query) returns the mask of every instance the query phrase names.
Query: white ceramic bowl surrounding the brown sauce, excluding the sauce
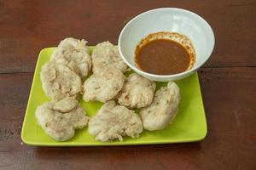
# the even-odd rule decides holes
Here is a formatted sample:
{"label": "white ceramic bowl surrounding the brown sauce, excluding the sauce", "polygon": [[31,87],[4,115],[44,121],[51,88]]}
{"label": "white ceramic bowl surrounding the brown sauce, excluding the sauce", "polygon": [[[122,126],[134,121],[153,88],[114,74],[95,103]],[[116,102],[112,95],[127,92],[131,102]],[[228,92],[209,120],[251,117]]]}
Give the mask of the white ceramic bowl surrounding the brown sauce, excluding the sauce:
{"label": "white ceramic bowl surrounding the brown sauce, excluding the sauce", "polygon": [[[174,31],[189,37],[196,55],[192,69],[173,75],[155,75],[137,69],[134,63],[137,43],[159,31]],[[212,54],[214,41],[211,26],[198,14],[182,8],[156,8],[137,15],[126,24],[119,35],[119,52],[133,71],[150,80],[168,82],[188,77],[200,68]]]}

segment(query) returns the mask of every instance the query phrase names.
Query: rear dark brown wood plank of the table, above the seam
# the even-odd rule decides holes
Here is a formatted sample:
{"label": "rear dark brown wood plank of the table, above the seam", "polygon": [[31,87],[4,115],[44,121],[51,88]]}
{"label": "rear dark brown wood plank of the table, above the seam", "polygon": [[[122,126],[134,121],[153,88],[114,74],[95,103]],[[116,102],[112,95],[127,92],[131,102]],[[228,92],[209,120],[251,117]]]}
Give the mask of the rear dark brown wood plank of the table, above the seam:
{"label": "rear dark brown wood plank of the table, above the seam", "polygon": [[40,49],[65,37],[117,43],[128,20],[148,9],[187,8],[211,25],[216,48],[205,66],[255,66],[256,3],[233,1],[1,1],[0,73],[32,72]]}

